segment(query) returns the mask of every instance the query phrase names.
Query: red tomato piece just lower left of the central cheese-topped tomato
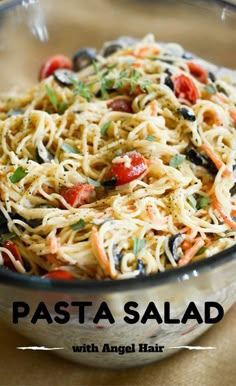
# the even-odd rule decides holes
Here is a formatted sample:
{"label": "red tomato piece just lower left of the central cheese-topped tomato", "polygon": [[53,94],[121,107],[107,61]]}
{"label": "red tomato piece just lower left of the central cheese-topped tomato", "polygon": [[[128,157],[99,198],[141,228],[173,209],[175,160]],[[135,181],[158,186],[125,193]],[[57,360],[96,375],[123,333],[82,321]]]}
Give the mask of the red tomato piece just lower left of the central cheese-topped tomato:
{"label": "red tomato piece just lower left of the central cheese-topped tomato", "polygon": [[94,186],[89,184],[76,184],[72,188],[64,188],[61,192],[62,197],[73,208],[88,204],[94,197]]}

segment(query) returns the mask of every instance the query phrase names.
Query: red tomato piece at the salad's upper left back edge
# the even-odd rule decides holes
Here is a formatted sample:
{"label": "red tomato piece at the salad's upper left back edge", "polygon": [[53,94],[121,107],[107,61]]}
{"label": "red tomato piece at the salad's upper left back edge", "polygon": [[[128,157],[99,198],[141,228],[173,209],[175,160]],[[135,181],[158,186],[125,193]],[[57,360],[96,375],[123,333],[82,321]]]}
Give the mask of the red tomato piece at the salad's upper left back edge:
{"label": "red tomato piece at the salad's upper left back edge", "polygon": [[71,60],[64,55],[55,55],[42,64],[39,71],[39,80],[43,80],[48,76],[52,75],[55,70],[59,68],[65,68],[67,70],[72,70]]}

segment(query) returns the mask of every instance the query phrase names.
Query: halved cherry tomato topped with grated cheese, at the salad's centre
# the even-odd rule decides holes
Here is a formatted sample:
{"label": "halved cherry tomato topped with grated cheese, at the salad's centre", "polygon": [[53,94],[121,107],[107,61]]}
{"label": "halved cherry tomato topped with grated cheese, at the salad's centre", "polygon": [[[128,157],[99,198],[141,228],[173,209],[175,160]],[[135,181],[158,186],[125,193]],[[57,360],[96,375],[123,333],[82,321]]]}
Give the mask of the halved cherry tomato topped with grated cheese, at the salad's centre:
{"label": "halved cherry tomato topped with grated cheese, at the salad's centre", "polygon": [[131,151],[123,154],[123,156],[129,157],[130,166],[125,165],[125,160],[124,162],[114,163],[108,173],[108,178],[116,178],[116,186],[136,180],[147,170],[145,159],[140,153]]}

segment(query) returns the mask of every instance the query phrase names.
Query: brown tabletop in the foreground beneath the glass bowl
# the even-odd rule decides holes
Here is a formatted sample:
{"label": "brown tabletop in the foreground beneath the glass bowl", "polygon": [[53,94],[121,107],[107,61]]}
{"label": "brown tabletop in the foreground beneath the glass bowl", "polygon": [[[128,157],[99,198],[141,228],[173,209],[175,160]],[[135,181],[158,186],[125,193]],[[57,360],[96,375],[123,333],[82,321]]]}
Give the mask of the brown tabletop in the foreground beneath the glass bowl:
{"label": "brown tabletop in the foreground beneath the glass bowl", "polygon": [[32,342],[0,321],[1,386],[232,386],[236,384],[236,306],[194,342],[215,350],[183,350],[145,367],[125,370],[89,368],[45,351],[18,351]]}

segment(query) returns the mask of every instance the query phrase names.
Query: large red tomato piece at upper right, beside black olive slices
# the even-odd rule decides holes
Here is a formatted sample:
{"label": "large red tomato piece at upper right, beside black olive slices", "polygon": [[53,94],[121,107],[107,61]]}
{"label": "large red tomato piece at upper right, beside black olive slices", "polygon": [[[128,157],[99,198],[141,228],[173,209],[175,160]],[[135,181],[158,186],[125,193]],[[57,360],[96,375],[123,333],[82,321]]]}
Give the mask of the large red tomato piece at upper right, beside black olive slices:
{"label": "large red tomato piece at upper right, beside black olive slices", "polygon": [[175,75],[172,77],[174,83],[174,93],[177,98],[183,98],[190,103],[196,103],[199,98],[198,90],[194,82],[185,74]]}

